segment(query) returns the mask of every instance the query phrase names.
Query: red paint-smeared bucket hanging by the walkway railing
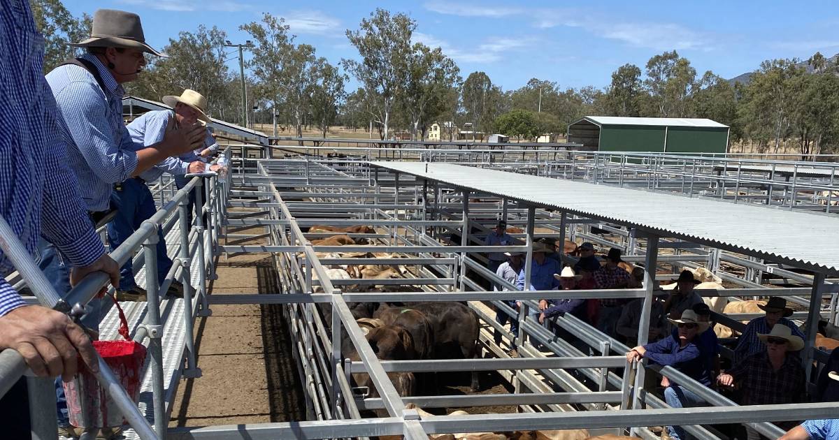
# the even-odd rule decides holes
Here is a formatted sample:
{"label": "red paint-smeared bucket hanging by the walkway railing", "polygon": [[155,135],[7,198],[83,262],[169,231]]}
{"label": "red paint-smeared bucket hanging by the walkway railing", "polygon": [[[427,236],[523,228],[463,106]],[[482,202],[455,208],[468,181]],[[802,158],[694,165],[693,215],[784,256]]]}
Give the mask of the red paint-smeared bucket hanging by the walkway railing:
{"label": "red paint-smeared bucket hanging by the walkway railing", "polygon": [[[116,303],[116,301],[114,302]],[[117,308],[119,304],[117,303]],[[119,308],[120,334],[128,339],[128,322]],[[143,362],[146,359],[146,348],[131,339],[93,341],[93,347],[102,356],[102,360],[111,367],[114,376],[125,388],[135,403],[140,392]],[[70,382],[64,383],[67,397],[67,409],[70,412],[70,425],[89,430],[90,428],[122,427],[125,421],[122,412],[99,386],[96,376],[86,368],[81,357],[79,374]]]}

